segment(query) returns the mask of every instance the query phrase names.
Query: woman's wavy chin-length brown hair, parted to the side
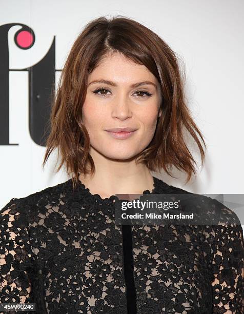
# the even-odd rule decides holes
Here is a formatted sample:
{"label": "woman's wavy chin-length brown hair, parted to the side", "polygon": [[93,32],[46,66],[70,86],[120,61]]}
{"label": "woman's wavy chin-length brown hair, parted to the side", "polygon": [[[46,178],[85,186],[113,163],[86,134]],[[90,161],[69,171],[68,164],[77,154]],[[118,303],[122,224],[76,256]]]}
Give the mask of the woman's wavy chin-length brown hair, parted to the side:
{"label": "woman's wavy chin-length brown hair, parted to the side", "polygon": [[197,144],[202,163],[206,144],[186,106],[185,81],[181,77],[178,58],[156,33],[121,15],[93,19],[76,38],[53,98],[51,131],[43,167],[50,153],[57,148],[61,161],[56,172],[65,165],[68,175],[72,174],[73,188],[77,185],[79,173],[94,173],[82,106],[87,93],[88,74],[103,57],[113,52],[120,52],[136,64],[146,66],[161,86],[162,114],[151,143],[136,156],[136,162],[144,163],[151,171],[163,168],[171,176],[170,169],[175,166],[187,173],[188,182],[192,174],[196,175],[196,162],[185,143],[182,128],[186,128]]}

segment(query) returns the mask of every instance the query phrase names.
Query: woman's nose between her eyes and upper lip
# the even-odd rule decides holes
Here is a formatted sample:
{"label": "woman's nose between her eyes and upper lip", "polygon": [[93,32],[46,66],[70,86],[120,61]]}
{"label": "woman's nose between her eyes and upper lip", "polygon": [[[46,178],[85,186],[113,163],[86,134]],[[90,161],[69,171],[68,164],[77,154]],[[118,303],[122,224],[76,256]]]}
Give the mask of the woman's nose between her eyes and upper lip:
{"label": "woman's nose between her eyes and upper lip", "polygon": [[132,104],[128,96],[118,94],[111,105],[112,117],[117,117],[119,120],[125,120],[132,116]]}

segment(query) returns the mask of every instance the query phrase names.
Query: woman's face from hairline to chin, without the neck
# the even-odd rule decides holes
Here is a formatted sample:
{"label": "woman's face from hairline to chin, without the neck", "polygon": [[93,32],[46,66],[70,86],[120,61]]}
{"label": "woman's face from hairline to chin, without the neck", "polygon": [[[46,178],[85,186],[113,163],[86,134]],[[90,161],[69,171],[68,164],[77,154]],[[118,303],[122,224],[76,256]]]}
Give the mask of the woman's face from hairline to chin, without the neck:
{"label": "woman's face from hairline to chin, without the neck", "polygon": [[[97,80],[107,82],[93,82]],[[146,81],[147,84],[132,86]],[[95,149],[107,158],[127,160],[143,151],[153,138],[161,114],[160,103],[159,83],[145,66],[128,61],[119,53],[106,56],[88,76],[82,108],[91,155]],[[106,131],[126,127],[136,129],[127,139],[114,138]]]}

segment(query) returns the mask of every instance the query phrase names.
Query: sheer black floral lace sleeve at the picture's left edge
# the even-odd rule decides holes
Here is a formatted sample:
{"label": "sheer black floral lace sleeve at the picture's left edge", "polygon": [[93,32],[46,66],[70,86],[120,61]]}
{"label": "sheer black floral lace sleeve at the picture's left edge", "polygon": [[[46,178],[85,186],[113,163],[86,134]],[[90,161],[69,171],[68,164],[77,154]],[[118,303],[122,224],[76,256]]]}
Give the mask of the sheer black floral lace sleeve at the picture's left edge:
{"label": "sheer black floral lace sleeve at the picture's left edge", "polygon": [[[12,199],[0,210],[0,303],[32,303],[32,254],[25,214]],[[15,313],[15,311],[6,311]]]}

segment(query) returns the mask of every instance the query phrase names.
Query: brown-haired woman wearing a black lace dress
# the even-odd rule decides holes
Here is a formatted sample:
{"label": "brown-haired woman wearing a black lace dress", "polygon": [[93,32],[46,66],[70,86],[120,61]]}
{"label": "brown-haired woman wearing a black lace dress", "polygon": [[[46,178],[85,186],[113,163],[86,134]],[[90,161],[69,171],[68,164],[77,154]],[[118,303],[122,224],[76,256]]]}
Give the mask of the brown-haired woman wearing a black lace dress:
{"label": "brown-haired woman wearing a black lace dress", "polygon": [[169,46],[130,18],[91,21],[65,63],[43,163],[58,148],[58,170],[73,176],[1,210],[1,302],[38,313],[243,313],[232,210],[211,199],[217,225],[115,224],[116,193],[190,193],[150,173],[195,174],[183,127],[203,161]]}

